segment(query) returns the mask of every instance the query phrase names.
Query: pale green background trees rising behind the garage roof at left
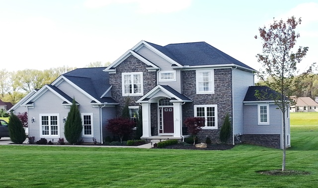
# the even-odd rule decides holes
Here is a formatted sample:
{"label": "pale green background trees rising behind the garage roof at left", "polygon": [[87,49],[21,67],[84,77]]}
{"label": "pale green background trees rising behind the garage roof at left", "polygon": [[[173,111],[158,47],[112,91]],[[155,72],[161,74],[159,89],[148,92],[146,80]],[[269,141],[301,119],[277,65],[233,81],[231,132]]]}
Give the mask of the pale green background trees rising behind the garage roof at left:
{"label": "pale green background trees rising behind the garage roof at left", "polygon": [[[101,67],[110,63],[93,62],[85,67]],[[55,67],[45,70],[24,69],[7,71],[0,69],[0,99],[13,105],[33,89],[41,89],[45,84],[52,83],[60,75],[77,67]]]}

